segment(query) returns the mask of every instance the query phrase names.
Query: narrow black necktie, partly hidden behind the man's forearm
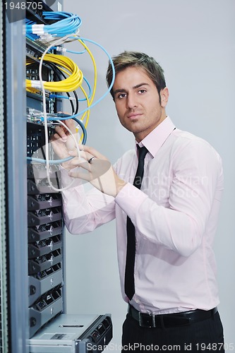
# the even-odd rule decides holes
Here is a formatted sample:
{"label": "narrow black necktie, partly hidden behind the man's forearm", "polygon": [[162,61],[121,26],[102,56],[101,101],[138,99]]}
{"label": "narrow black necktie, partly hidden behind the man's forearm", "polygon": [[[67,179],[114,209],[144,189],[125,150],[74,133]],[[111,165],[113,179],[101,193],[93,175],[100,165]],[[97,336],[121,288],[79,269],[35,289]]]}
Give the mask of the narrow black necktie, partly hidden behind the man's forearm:
{"label": "narrow black necktie, partly hidden behind the man's forearm", "polygon": [[[140,189],[144,164],[145,155],[147,153],[147,148],[140,148],[138,145],[138,167],[135,174],[135,179],[133,185]],[[135,282],[134,282],[134,265],[135,265],[135,227],[131,222],[131,219],[127,217],[126,220],[126,232],[127,232],[127,246],[126,246],[126,271],[125,271],[125,293],[128,299],[132,299],[135,293]]]}

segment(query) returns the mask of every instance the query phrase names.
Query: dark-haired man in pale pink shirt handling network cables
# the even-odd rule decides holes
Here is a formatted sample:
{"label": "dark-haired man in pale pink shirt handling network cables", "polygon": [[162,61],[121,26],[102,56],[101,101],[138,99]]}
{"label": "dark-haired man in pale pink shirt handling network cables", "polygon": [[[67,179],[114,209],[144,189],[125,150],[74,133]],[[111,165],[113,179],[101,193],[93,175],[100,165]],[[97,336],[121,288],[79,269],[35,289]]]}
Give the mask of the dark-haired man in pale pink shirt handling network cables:
{"label": "dark-haired man in pale pink shirt handling network cables", "polygon": [[[212,250],[223,189],[221,159],[209,143],[179,130],[167,116],[169,92],[155,59],[123,52],[113,61],[116,112],[138,147],[111,167],[85,145],[83,159],[76,157],[71,137],[63,126],[56,128],[55,151],[74,156],[61,170],[63,186],[76,179],[63,192],[66,226],[81,234],[116,217],[121,292],[128,302],[123,351],[224,352]],[[108,85],[111,81],[109,65]],[[72,121],[67,124],[73,128]],[[141,148],[146,155],[138,164]],[[144,172],[136,177],[140,164]],[[95,188],[85,193],[80,179]],[[127,270],[130,258],[133,273]]]}

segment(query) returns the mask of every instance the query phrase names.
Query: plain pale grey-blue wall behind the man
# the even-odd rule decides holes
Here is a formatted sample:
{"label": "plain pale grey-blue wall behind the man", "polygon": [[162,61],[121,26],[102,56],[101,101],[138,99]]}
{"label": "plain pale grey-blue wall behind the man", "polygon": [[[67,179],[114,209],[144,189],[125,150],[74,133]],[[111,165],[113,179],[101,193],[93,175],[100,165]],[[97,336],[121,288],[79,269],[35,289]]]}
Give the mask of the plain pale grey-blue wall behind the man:
{"label": "plain pale grey-blue wall behind the man", "polygon": [[[64,10],[77,13],[83,20],[80,35],[99,42],[109,54],[126,49],[155,56],[169,87],[171,119],[177,127],[210,141],[222,156],[225,190],[215,253],[225,342],[235,349],[234,0],[65,0]],[[74,50],[76,46],[72,44]],[[94,53],[98,99],[106,90],[107,56],[95,47]],[[92,77],[90,61],[74,59]],[[108,95],[91,110],[88,145],[115,162],[133,143],[133,136],[120,126]],[[115,222],[92,234],[67,234],[66,267],[68,313],[112,313],[112,342],[118,350],[126,304],[119,289]]]}

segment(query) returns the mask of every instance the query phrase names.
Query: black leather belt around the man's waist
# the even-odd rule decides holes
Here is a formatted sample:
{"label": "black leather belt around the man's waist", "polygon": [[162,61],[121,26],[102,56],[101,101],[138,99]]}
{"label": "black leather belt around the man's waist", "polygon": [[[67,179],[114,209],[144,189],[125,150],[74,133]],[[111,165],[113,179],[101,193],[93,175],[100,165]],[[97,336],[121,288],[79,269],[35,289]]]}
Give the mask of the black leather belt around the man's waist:
{"label": "black leather belt around the man's waist", "polygon": [[196,309],[181,313],[152,315],[151,313],[140,313],[133,306],[128,305],[128,313],[144,328],[173,328],[175,326],[190,325],[191,323],[211,318],[216,312],[217,308],[208,311]]}

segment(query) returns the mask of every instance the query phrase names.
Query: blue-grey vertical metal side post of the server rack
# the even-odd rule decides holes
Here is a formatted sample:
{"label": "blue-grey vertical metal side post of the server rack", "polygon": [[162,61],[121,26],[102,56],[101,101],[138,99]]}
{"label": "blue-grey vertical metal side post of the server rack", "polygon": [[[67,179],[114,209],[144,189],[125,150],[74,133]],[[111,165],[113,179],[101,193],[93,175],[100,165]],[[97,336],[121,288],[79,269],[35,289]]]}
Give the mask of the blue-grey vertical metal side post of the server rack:
{"label": "blue-grey vertical metal side post of the server rack", "polygon": [[[8,315],[4,331],[7,342],[3,353],[28,352],[28,241],[27,241],[27,169],[25,35],[23,19],[3,11],[4,66],[4,192],[6,209],[6,287]],[[7,16],[8,15],[8,16]],[[11,18],[13,16],[13,18]],[[2,164],[1,164],[2,168]],[[2,235],[1,235],[2,237]]]}

